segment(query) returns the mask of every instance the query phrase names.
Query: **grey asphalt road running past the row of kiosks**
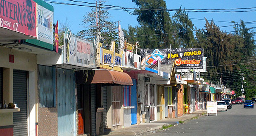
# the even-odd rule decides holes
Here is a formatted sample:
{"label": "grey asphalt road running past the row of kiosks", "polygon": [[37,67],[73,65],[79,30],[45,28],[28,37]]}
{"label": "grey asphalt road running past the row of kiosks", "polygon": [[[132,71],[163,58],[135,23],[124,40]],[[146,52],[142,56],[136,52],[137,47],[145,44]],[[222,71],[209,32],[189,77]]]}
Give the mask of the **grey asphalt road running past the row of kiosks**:
{"label": "grey asphalt road running past the row of kiosks", "polygon": [[[255,105],[256,103],[254,103]],[[150,136],[256,136],[256,107],[233,105],[218,115],[202,116]]]}

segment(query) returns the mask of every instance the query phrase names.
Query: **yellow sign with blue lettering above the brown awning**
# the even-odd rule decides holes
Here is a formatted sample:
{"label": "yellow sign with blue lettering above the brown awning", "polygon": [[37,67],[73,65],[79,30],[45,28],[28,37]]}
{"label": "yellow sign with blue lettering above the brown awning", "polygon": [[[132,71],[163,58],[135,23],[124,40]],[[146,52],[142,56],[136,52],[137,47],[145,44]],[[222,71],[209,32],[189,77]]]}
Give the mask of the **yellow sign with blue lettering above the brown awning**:
{"label": "yellow sign with blue lettering above the brown awning", "polygon": [[[122,55],[109,51],[107,49],[101,49],[101,67],[107,69],[114,69],[116,71],[123,72]],[[114,61],[114,62],[113,62]]]}

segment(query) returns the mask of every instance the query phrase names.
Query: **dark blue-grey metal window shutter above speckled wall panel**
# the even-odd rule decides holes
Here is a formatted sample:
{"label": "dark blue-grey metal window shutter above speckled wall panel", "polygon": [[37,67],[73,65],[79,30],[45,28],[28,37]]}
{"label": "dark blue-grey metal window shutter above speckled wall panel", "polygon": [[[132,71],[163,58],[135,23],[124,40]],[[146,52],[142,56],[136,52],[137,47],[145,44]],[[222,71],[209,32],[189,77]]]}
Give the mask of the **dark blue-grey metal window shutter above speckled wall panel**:
{"label": "dark blue-grey metal window shutter above speckled wall panel", "polygon": [[39,106],[55,107],[55,68],[38,66]]}

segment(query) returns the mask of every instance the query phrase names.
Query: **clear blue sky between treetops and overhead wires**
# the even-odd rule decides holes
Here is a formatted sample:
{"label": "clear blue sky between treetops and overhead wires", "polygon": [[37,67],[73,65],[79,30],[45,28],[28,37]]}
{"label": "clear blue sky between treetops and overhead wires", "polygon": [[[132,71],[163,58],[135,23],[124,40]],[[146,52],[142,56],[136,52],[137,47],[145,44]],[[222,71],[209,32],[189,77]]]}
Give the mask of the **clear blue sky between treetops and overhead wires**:
{"label": "clear blue sky between treetops and overhead wires", "polygon": [[[66,0],[52,0],[57,2],[68,2]],[[81,0],[86,2],[95,2],[95,0]],[[248,8],[256,7],[256,0],[165,0],[167,9],[179,9],[182,6],[186,9],[224,9],[224,8]],[[79,3],[78,3],[79,4]],[[131,0],[109,0],[105,4],[116,5],[122,7],[137,7]],[[58,20],[60,23],[65,23],[66,19],[69,23],[72,33],[83,30],[83,16],[91,11],[91,7],[79,7],[70,5],[51,4],[54,6],[54,23]],[[251,9],[256,10],[256,9]],[[109,10],[111,21],[120,21],[122,28],[127,29],[128,25],[136,26],[137,16],[130,15],[125,11]],[[175,12],[170,12],[173,15]],[[189,12],[190,18],[216,20],[216,21],[236,21],[242,19],[244,22],[256,21],[256,12],[242,13],[204,13],[204,12]],[[194,26],[204,28],[205,21],[191,19]],[[217,26],[228,26],[232,23],[215,22]],[[117,26],[117,24],[116,24]],[[247,24],[247,28],[256,27],[254,24]],[[232,26],[221,28],[221,30],[232,31]],[[254,29],[254,31],[256,31]]]}

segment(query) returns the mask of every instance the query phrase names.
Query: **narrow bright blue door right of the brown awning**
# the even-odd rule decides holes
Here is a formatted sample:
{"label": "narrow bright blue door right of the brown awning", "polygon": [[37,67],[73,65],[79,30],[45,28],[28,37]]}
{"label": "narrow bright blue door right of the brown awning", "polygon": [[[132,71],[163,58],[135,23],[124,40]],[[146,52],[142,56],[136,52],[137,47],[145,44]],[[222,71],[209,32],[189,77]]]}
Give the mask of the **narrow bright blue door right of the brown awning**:
{"label": "narrow bright blue door right of the brown awning", "polygon": [[131,124],[137,124],[137,82],[133,79],[133,86],[131,87]]}

